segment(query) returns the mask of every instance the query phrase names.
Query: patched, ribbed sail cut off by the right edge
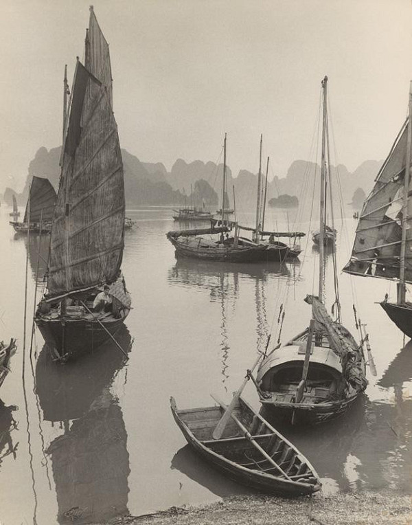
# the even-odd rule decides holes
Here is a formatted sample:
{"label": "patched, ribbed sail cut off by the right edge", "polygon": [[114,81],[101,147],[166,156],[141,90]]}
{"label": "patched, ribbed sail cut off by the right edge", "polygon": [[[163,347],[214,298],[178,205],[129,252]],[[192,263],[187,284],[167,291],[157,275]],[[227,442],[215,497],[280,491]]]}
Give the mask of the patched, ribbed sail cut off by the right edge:
{"label": "patched, ribbed sail cut off by the right edge", "polygon": [[[402,200],[407,122],[375,179],[359,218],[352,256],[343,271],[378,278],[399,278]],[[412,230],[407,229],[405,280],[412,282]]]}

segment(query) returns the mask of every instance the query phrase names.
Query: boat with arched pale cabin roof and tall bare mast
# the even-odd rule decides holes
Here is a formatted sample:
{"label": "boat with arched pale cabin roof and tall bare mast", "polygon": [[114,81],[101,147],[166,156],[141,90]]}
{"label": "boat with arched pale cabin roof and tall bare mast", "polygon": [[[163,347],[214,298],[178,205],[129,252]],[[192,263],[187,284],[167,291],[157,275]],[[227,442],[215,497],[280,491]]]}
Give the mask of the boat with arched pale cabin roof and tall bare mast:
{"label": "boat with arched pale cabin roof and tall bare mast", "polygon": [[[327,85],[322,81],[323,133],[321,153],[320,234],[323,236],[326,205],[326,184],[330,188],[329,153],[326,153],[328,133]],[[332,201],[332,199],[331,199]],[[343,414],[365,390],[365,356],[363,344],[341,324],[339,282],[334,260],[334,311],[336,320],[324,304],[325,247],[319,245],[319,295],[307,295],[312,306],[308,328],[283,346],[278,345],[264,355],[258,368],[255,386],[260,402],[274,416],[288,423],[317,424]]]}

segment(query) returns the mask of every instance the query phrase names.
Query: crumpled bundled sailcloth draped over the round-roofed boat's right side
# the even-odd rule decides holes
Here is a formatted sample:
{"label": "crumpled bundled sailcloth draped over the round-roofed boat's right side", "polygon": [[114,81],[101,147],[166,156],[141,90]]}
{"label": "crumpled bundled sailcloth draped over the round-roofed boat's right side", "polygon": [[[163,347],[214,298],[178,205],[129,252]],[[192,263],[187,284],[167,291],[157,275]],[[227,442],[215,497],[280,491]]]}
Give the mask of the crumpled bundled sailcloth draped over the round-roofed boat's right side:
{"label": "crumpled bundled sailcloth draped over the round-roofed boat's right side", "polygon": [[319,298],[307,295],[305,301],[312,304],[315,333],[328,337],[330,348],[341,359],[346,381],[357,391],[365,390],[367,379],[361,364],[361,353],[352,334],[345,326],[332,320]]}

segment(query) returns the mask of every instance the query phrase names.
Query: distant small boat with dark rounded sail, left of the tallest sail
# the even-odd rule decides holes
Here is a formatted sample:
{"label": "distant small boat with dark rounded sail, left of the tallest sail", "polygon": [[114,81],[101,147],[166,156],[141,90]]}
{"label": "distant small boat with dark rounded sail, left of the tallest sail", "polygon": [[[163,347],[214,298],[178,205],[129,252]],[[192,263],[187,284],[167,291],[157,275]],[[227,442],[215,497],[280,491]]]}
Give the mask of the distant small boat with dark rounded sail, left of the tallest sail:
{"label": "distant small boat with dark rounded sail, left of the tallest sail", "polygon": [[56,199],[56,192],[49,179],[34,176],[30,184],[23,222],[10,221],[10,225],[17,233],[27,234],[29,230],[34,233],[50,233]]}

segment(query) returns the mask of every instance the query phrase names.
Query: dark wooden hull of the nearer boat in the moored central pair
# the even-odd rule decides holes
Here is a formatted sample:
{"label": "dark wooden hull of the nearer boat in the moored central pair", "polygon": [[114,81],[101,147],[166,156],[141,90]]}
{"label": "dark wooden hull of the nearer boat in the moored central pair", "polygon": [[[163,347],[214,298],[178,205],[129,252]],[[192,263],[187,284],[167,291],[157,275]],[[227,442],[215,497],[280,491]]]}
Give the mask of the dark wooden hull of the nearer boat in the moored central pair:
{"label": "dark wooden hull of the nearer boat in the moored central pair", "polygon": [[254,263],[264,260],[262,252],[266,251],[266,246],[249,248],[243,246],[237,248],[231,246],[196,248],[187,246],[184,242],[173,237],[168,237],[168,239],[176,249],[176,256],[201,260],[226,261],[228,263]]}

